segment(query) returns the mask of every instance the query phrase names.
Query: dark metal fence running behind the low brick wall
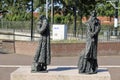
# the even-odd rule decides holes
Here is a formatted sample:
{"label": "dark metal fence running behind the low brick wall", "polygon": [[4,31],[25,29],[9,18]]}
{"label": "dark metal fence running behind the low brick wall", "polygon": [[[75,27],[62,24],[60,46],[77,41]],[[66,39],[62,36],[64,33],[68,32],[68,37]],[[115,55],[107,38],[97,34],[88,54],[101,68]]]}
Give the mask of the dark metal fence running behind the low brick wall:
{"label": "dark metal fence running behind the low brick wall", "polygon": [[[110,27],[109,27],[110,26]],[[117,35],[115,36],[115,30],[112,25],[102,26],[99,34],[99,42],[119,42],[120,41],[120,29],[117,29]],[[74,24],[67,24],[67,39],[85,41],[86,39],[86,26],[85,24],[76,25],[76,36],[74,36]],[[10,39],[16,40],[15,37],[27,37],[31,38],[31,21],[0,21],[0,35],[12,37]],[[39,34],[36,30],[36,22],[33,24],[33,38],[39,38]],[[51,27],[52,38],[52,27]],[[5,39],[1,37],[0,39]],[[9,39],[9,38],[8,38]]]}

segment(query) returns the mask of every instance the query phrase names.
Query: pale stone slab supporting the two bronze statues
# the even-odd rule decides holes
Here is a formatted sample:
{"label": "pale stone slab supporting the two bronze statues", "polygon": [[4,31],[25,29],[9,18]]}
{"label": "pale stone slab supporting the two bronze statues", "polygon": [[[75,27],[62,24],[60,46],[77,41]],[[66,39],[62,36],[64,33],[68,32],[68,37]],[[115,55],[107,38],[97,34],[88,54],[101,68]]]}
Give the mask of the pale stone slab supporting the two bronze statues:
{"label": "pale stone slab supporting the two bronze statues", "polygon": [[31,67],[20,67],[11,73],[11,80],[111,80],[107,68],[97,74],[79,74],[76,66],[48,66],[48,73],[31,73]]}

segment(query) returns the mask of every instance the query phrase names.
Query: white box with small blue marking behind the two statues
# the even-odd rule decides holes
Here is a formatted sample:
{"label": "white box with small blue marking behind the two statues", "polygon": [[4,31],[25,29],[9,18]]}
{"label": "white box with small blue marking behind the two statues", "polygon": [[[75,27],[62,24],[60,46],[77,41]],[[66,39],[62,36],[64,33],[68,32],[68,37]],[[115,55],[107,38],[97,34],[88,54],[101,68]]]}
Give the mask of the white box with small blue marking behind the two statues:
{"label": "white box with small blue marking behind the two statues", "polygon": [[64,24],[53,25],[53,40],[67,39],[67,26]]}

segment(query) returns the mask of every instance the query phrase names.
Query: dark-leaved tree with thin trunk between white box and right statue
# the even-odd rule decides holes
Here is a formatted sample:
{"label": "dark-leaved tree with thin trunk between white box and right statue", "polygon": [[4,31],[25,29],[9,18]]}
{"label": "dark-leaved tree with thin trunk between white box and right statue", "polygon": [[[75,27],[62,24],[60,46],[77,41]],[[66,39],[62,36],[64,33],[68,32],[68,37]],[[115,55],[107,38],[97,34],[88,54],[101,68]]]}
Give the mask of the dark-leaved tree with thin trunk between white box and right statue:
{"label": "dark-leaved tree with thin trunk between white box and right statue", "polygon": [[82,17],[88,17],[92,10],[96,9],[97,3],[101,3],[102,0],[58,0],[63,4],[63,14],[66,16],[68,13],[74,16],[74,36],[76,37],[76,18],[77,13],[80,18],[80,24],[82,26]]}

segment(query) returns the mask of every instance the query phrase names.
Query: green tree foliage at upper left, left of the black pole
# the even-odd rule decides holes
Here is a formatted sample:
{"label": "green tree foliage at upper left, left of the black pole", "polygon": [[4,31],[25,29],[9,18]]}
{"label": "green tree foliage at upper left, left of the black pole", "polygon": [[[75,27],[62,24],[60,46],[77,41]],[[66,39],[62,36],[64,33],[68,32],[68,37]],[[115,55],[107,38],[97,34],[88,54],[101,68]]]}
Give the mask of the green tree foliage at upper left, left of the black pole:
{"label": "green tree foliage at upper left, left of the black pole", "polygon": [[5,20],[10,21],[23,21],[23,20],[30,20],[30,13],[27,13],[27,3],[30,0],[2,0],[0,1],[0,6],[2,10],[7,10],[8,13],[4,15]]}

